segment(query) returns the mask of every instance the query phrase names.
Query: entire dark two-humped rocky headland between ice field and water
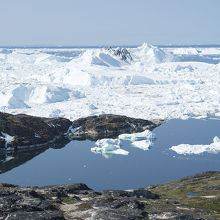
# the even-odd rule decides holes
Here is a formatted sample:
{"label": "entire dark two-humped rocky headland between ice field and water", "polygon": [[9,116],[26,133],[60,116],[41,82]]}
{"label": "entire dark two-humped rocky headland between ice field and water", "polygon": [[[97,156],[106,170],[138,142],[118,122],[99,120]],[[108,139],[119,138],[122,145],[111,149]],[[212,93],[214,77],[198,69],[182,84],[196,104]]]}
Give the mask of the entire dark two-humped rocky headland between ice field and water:
{"label": "entire dark two-humped rocky headland between ice field and water", "polygon": [[43,118],[0,112],[0,149],[39,148],[69,139],[107,138],[122,133],[144,131],[161,125],[162,120],[148,121],[121,115],[104,114],[71,122],[65,118]]}

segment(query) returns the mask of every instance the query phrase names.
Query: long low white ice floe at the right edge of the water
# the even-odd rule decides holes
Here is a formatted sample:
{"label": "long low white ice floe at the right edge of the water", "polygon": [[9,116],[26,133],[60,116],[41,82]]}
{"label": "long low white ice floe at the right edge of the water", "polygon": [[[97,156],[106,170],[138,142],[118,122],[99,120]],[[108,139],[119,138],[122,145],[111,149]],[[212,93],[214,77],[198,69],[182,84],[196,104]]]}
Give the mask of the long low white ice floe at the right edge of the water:
{"label": "long low white ice floe at the right edge of the water", "polygon": [[215,136],[213,143],[209,145],[190,145],[190,144],[180,144],[177,146],[172,146],[170,150],[175,151],[177,154],[202,154],[202,153],[220,153],[220,139]]}

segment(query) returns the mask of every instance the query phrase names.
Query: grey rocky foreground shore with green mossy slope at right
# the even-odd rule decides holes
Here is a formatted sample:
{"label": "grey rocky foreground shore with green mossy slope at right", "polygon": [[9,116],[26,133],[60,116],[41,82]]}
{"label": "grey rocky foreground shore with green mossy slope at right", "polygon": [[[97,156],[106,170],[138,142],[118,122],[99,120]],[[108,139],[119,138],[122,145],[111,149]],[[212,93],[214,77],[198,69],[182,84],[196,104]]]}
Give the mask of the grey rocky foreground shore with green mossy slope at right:
{"label": "grey rocky foreground shore with green mossy slope at right", "polygon": [[0,184],[0,219],[220,219],[220,172],[136,190]]}

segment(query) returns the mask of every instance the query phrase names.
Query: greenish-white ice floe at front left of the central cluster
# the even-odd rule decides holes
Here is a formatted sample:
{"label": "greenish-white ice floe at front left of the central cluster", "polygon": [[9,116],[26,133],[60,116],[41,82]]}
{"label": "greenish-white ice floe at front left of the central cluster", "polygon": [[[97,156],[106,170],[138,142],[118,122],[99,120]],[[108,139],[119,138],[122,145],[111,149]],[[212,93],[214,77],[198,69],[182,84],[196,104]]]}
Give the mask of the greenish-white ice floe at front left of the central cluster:
{"label": "greenish-white ice floe at front left of the central cluster", "polygon": [[120,148],[119,139],[101,139],[96,141],[96,146],[91,148],[93,153],[101,153],[104,156],[108,154],[128,155],[129,152]]}

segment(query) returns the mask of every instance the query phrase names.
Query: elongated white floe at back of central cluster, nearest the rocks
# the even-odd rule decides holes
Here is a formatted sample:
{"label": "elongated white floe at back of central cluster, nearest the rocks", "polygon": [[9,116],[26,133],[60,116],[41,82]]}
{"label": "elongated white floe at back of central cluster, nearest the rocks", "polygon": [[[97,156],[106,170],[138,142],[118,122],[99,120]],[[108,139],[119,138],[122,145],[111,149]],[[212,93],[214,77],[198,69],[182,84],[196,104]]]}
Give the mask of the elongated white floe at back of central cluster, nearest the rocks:
{"label": "elongated white floe at back of central cluster, nearest the rocks", "polygon": [[155,136],[151,131],[145,130],[139,133],[121,134],[118,136],[118,138],[121,140],[140,141],[140,140],[153,140]]}

